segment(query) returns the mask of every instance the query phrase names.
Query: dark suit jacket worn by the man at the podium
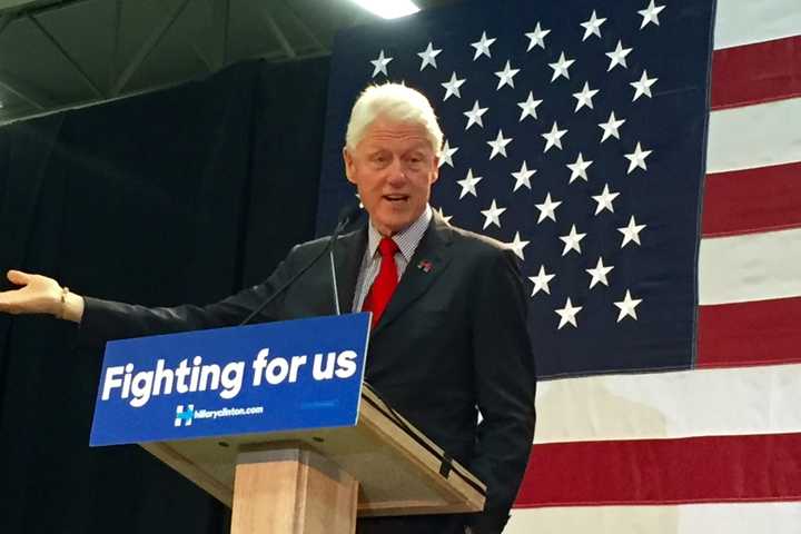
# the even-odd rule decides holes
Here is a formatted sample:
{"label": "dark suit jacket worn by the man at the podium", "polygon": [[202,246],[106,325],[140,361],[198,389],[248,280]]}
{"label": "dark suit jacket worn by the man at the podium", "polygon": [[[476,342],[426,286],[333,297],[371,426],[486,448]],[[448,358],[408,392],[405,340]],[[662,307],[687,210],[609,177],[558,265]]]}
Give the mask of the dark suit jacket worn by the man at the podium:
{"label": "dark suit jacket worn by the man at the podium", "polygon": [[[363,228],[335,246],[343,310],[353,306],[366,239]],[[266,281],[208,306],[87,298],[82,334],[105,340],[236,325],[325,246],[325,238],[296,246]],[[259,320],[330,315],[332,300],[320,258]],[[366,380],[487,484],[485,512],[466,518],[476,532],[501,532],[528,458],[535,372],[526,309],[514,254],[435,214],[370,337]]]}

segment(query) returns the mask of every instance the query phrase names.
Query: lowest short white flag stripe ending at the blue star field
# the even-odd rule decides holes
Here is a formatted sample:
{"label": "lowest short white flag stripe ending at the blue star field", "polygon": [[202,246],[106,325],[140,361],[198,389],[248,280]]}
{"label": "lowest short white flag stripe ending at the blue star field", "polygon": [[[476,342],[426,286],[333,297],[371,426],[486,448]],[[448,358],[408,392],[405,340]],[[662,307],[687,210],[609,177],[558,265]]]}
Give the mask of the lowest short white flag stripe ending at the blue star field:
{"label": "lowest short white flag stripe ending at the blue star field", "polygon": [[699,301],[745,303],[801,295],[801,229],[701,240]]}

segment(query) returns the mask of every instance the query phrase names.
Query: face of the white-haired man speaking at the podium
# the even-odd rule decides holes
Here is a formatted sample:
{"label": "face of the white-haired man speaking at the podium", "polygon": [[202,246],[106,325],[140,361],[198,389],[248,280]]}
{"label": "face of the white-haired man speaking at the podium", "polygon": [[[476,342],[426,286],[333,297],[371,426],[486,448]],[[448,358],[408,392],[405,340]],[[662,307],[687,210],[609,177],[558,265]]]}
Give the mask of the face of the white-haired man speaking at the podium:
{"label": "face of the white-haired man speaking at the podium", "polygon": [[343,156],[347,179],[379,234],[397,234],[423,214],[438,177],[438,159],[423,126],[377,118]]}

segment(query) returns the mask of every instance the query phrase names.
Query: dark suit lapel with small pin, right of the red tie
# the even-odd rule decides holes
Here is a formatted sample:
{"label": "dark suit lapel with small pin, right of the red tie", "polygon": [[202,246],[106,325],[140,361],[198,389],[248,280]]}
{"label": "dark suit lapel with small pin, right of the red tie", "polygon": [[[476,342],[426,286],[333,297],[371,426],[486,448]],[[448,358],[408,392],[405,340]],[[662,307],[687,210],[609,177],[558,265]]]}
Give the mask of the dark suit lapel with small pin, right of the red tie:
{"label": "dark suit lapel with small pin, right of the red tie", "polygon": [[442,275],[451,261],[451,231],[447,222],[435,211],[374,334],[392,324]]}

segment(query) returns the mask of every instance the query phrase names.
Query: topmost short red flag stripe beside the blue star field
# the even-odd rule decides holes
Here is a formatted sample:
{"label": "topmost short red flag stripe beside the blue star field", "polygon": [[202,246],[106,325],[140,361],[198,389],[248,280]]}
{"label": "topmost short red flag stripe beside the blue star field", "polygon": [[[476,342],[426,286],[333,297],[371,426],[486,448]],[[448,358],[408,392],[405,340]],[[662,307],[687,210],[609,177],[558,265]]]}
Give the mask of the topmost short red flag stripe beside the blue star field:
{"label": "topmost short red flag stripe beside the blue star field", "polygon": [[801,36],[715,50],[712,109],[801,95]]}

